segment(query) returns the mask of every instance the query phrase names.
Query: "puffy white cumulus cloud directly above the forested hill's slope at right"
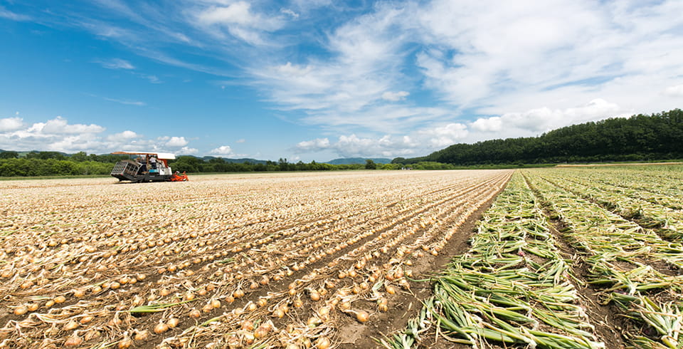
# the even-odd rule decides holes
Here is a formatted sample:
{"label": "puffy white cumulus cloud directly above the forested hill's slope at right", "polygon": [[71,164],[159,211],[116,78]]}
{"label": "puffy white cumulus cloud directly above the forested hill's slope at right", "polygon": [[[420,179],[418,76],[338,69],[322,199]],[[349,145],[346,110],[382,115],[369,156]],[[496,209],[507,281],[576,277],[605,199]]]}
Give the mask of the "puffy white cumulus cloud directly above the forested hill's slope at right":
{"label": "puffy white cumulus cloud directly above the forested hill's slope at right", "polygon": [[534,108],[521,113],[505,113],[491,118],[479,118],[470,124],[472,130],[480,132],[500,132],[502,130],[523,130],[524,135],[537,135],[558,127],[568,126],[588,121],[611,118],[623,113],[622,108],[606,100],[591,100],[586,105],[576,108],[551,109],[547,107]]}

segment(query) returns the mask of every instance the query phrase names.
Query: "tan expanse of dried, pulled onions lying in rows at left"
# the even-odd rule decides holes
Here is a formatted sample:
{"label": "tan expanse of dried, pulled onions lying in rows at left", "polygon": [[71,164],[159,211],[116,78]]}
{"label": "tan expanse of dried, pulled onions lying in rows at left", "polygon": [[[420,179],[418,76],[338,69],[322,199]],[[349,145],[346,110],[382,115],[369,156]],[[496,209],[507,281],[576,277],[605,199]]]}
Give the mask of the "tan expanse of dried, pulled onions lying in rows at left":
{"label": "tan expanse of dried, pulled onions lying in rows at left", "polygon": [[[1,252],[7,313],[0,314],[0,343],[333,343],[334,319],[363,322],[386,311],[391,294],[410,288],[411,260],[438,254],[450,239],[445,228],[457,228],[507,177],[384,172],[238,184],[200,177],[180,184],[188,187],[20,187],[17,206],[44,213],[14,209],[1,222],[5,246],[16,245]],[[132,188],[141,199],[131,200]],[[33,203],[43,190],[65,193],[70,212],[55,211],[59,195]],[[108,191],[120,201],[100,204]],[[149,197],[179,191],[187,199],[154,207],[153,224],[136,223],[153,205]],[[329,316],[321,315],[325,306]],[[312,326],[311,318],[322,321]],[[216,326],[235,335],[217,340]]]}

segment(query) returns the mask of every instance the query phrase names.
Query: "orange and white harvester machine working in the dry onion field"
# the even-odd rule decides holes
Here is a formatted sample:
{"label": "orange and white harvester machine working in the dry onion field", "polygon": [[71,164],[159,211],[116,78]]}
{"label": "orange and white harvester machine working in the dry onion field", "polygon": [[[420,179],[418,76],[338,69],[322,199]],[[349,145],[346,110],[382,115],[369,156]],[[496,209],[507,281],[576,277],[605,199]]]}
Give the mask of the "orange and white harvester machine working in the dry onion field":
{"label": "orange and white harvester machine working in the dry onion field", "polygon": [[[120,181],[131,182],[184,182],[185,172],[173,172],[169,160],[176,155],[168,152],[112,152],[116,155],[129,155],[128,160],[121,160],[114,165],[112,176]],[[134,159],[133,159],[134,157]]]}

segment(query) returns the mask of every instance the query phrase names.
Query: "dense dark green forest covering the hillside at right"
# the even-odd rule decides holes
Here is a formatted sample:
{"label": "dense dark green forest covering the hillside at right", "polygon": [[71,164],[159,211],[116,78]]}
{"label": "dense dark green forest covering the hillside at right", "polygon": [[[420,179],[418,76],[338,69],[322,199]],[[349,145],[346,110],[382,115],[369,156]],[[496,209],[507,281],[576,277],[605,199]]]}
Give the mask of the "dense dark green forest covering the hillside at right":
{"label": "dense dark green forest covering the hillside at right", "polygon": [[539,137],[456,144],[425,157],[395,164],[442,162],[451,165],[539,164],[561,162],[647,161],[683,158],[683,111],[562,127]]}

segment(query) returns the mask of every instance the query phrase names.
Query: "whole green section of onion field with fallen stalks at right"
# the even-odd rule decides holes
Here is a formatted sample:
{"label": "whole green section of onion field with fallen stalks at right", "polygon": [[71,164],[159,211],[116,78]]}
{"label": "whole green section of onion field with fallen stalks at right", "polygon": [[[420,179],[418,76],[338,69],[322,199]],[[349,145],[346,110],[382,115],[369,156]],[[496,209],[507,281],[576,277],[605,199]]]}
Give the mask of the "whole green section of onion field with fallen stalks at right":
{"label": "whole green section of onion field with fallen stalks at right", "polygon": [[383,344],[681,348],[682,181],[679,165],[517,171]]}

